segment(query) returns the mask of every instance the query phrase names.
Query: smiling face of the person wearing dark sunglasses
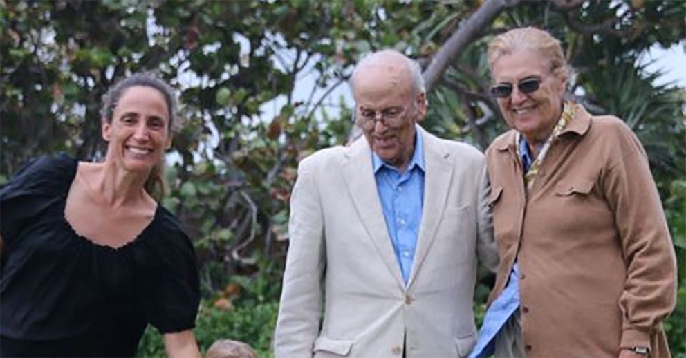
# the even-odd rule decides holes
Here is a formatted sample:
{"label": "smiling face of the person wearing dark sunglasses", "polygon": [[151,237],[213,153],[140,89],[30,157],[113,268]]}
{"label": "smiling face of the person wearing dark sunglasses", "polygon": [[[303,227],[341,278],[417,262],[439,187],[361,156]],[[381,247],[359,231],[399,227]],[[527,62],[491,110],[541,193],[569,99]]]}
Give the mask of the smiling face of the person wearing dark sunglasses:
{"label": "smiling face of the person wearing dark sunglasses", "polygon": [[[510,95],[498,98],[506,122],[530,144],[544,142],[562,113],[566,79],[555,76],[548,59],[531,50],[501,56],[493,64],[492,75],[496,85],[512,86]],[[526,93],[517,88],[517,84],[536,79],[539,88],[535,91]],[[522,88],[526,90],[525,86]]]}

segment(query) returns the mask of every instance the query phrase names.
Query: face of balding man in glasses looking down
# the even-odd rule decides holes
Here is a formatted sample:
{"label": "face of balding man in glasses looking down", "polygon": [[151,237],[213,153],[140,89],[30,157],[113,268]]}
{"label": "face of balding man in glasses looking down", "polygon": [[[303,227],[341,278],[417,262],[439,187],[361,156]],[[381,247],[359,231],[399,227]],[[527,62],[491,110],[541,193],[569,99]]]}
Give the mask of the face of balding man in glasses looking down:
{"label": "face of balding man in glasses looking down", "polygon": [[414,124],[426,113],[409,69],[380,64],[360,68],[354,84],[355,120],[369,147],[384,162],[405,171],[414,153]]}

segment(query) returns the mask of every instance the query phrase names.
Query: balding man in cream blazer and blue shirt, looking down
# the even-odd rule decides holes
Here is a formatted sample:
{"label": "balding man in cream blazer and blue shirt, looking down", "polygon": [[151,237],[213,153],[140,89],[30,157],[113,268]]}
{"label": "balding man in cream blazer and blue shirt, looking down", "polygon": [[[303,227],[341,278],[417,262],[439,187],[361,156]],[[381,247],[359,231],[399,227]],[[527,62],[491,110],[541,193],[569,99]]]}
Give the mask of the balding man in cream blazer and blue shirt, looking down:
{"label": "balding man in cream blazer and blue shirt, looking down", "polygon": [[483,156],[417,125],[427,100],[404,55],[365,57],[351,89],[364,137],[299,165],[275,355],[464,357],[476,254],[498,262]]}

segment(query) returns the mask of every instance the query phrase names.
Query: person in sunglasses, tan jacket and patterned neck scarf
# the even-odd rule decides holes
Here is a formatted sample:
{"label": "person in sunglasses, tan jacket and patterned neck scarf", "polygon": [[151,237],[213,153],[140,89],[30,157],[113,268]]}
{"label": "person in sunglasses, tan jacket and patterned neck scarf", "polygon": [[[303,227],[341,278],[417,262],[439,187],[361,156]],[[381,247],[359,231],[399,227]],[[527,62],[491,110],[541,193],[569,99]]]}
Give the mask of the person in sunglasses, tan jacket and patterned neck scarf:
{"label": "person in sunglasses, tan jacket and patterned neck scarf", "polygon": [[564,100],[548,32],[505,32],[488,60],[512,129],[486,151],[501,263],[472,356],[669,357],[676,258],[636,135]]}

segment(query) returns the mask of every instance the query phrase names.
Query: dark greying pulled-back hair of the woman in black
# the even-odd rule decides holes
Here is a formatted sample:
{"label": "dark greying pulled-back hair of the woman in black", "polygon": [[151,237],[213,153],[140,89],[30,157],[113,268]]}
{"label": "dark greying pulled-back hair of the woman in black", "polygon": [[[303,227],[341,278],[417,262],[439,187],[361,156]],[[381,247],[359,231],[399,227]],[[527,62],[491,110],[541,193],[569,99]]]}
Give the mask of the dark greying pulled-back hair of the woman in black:
{"label": "dark greying pulled-back hair of the woman in black", "polygon": [[[114,109],[116,108],[119,99],[129,88],[136,86],[154,88],[165,97],[167,110],[169,111],[169,135],[172,135],[171,132],[176,120],[176,98],[174,97],[174,90],[167,83],[158,79],[151,73],[136,73],[135,75],[122,79],[112,86],[102,97],[102,108],[100,109],[102,120],[111,123]],[[145,180],[145,191],[158,202],[165,196],[166,191],[163,176],[164,164],[164,160],[155,164],[150,171],[150,176]]]}

